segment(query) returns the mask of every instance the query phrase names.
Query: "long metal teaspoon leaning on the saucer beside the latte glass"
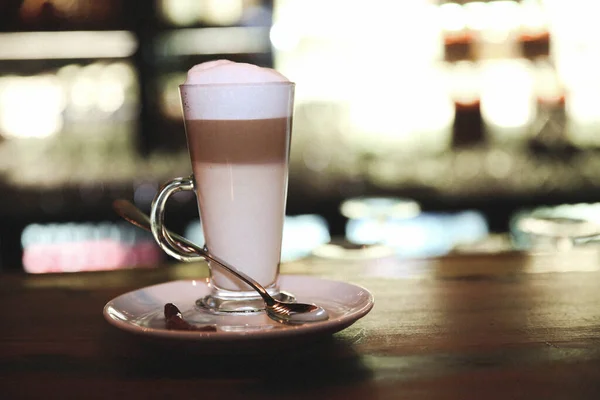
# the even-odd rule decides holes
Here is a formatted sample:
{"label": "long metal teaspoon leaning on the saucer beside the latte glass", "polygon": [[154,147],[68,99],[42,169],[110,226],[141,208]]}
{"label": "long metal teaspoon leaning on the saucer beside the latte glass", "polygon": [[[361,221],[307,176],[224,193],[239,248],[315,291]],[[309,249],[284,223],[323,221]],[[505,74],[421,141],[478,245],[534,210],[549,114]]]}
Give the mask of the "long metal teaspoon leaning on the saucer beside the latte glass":
{"label": "long metal teaspoon leaning on the saucer beside the latte glass", "polygon": [[[123,219],[132,223],[135,226],[138,226],[147,231],[151,231],[150,228],[150,217],[144,214],[139,208],[134,206],[131,202],[127,200],[115,200],[113,202],[113,208]],[[180,236],[176,233],[169,231],[173,239],[175,239],[181,248],[188,252],[194,252],[205,259],[213,261],[219,264],[222,268],[229,271],[231,274],[235,275],[240,280],[247,283],[250,287],[258,292],[260,297],[265,302],[265,310],[267,315],[278,322],[288,323],[288,324],[303,324],[308,322],[320,322],[326,321],[329,319],[329,315],[327,311],[322,307],[319,307],[315,304],[304,304],[304,303],[285,303],[279,300],[274,299],[266,289],[254,279],[246,275],[245,273],[239,271],[237,268],[228,265],[224,261],[221,261],[215,256],[211,255],[206,248],[201,248],[200,246],[190,242],[183,236]]]}

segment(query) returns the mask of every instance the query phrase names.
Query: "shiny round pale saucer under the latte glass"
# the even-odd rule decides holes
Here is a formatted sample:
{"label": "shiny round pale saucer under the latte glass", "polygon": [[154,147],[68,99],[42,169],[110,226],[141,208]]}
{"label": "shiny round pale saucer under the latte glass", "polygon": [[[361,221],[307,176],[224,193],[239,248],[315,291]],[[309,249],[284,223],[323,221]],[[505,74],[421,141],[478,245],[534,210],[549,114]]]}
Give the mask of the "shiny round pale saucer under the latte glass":
{"label": "shiny round pale saucer under the latte glass", "polygon": [[[104,306],[104,317],[122,330],[163,339],[197,342],[240,342],[290,337],[311,337],[338,332],[373,308],[368,290],[350,283],[310,276],[286,275],[279,279],[283,291],[297,301],[315,303],[327,310],[329,320],[304,325],[284,325],[265,313],[214,315],[198,309],[196,300],[209,294],[205,280],[174,281],[125,293]],[[164,305],[175,304],[193,324],[215,324],[216,332],[176,331],[165,327]]]}

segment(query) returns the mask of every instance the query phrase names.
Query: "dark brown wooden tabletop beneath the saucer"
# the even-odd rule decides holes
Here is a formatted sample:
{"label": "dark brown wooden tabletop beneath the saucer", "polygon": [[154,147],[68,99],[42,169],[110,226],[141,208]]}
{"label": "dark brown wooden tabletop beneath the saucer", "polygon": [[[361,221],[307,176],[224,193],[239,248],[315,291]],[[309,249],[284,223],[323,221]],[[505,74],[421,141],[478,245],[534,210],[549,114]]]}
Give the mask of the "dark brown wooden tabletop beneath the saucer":
{"label": "dark brown wooden tabletop beneath the saucer", "polygon": [[143,341],[102,317],[113,297],[203,265],[0,275],[0,398],[600,399],[597,264],[297,262],[283,272],[363,285],[373,311],[330,338],[226,355]]}

